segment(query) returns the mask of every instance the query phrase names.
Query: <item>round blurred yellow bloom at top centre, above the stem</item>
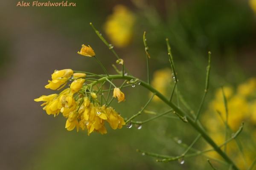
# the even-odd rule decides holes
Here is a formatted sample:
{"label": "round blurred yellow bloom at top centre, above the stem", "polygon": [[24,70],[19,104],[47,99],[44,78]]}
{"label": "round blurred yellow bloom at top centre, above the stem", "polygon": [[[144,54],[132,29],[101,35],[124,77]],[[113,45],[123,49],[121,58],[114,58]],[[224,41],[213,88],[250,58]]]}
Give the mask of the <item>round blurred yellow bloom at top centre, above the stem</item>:
{"label": "round blurred yellow bloom at top centre, above the stem", "polygon": [[134,14],[123,5],[116,5],[109,15],[104,30],[116,47],[122,48],[131,42],[135,23]]}

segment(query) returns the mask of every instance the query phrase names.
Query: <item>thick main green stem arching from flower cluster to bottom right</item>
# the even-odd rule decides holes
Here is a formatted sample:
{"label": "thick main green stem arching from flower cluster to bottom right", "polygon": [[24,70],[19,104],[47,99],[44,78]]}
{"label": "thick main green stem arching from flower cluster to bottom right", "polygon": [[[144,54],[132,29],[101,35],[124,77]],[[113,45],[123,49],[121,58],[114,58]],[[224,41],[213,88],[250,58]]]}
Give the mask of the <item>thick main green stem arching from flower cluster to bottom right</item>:
{"label": "thick main green stem arching from flower cluster to bottom right", "polygon": [[[98,82],[93,82],[90,84],[90,86],[95,85],[96,83],[99,82],[103,82],[106,79],[136,79],[135,77],[131,77],[131,76],[122,76],[122,75],[112,75],[109,77],[103,77],[101,79],[98,80]],[[148,83],[140,81],[140,85],[147,88],[149,91],[151,91],[152,93],[155,93],[156,96],[158,96],[163,102],[165,102],[167,105],[169,105],[175,112],[179,113],[181,116],[187,116],[187,120],[188,123],[195,129],[198,131],[198,133],[201,133],[202,137],[204,138],[204,140],[210,144],[215,151],[225,160],[227,161],[228,164],[233,164],[233,169],[234,170],[239,170],[238,167],[236,167],[236,165],[233,163],[233,161],[226,155],[226,153],[224,153],[219,147],[218,145],[208,136],[208,134],[197,124],[194,122],[194,120],[185,112],[183,112],[180,108],[178,108],[174,103],[170,102],[169,99],[167,99],[165,96],[163,96],[163,94],[161,94],[159,91],[157,91],[156,89],[154,89],[151,85],[148,85]]]}

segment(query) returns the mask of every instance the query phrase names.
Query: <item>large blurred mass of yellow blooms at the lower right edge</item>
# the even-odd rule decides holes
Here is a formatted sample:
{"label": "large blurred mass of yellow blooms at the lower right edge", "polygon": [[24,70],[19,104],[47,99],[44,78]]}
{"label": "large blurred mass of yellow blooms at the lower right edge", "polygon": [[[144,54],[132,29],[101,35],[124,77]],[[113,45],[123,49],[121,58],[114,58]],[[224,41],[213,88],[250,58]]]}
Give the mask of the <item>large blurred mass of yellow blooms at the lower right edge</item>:
{"label": "large blurred mass of yellow blooms at the lower right edge", "polygon": [[[249,128],[244,128],[244,133],[247,135],[256,134],[256,78],[248,79],[245,83],[239,85],[235,90],[232,87],[224,87],[224,94],[227,98],[227,109],[228,109],[228,125],[236,132],[241,125],[241,122],[244,122],[245,125]],[[218,115],[217,111],[221,113],[221,116]],[[221,120],[226,120],[226,111],[224,106],[223,93],[221,88],[219,88],[215,93],[215,99],[213,99],[209,104],[209,110],[203,116],[203,122],[207,125],[209,134],[212,139],[215,140],[217,144],[222,144],[224,142],[224,123]],[[218,128],[216,128],[218,127]],[[251,133],[253,132],[253,133]],[[230,136],[229,136],[230,138]],[[256,139],[253,138],[254,142]],[[248,142],[248,141],[244,141]],[[244,148],[245,156],[250,163],[253,160],[253,156],[250,155],[250,144],[247,143],[247,146]],[[236,142],[230,142],[227,145],[227,153],[229,155],[236,156],[239,153]],[[212,153],[212,156],[217,156],[217,154]],[[238,166],[241,169],[244,169],[243,161],[239,156],[236,156]]]}

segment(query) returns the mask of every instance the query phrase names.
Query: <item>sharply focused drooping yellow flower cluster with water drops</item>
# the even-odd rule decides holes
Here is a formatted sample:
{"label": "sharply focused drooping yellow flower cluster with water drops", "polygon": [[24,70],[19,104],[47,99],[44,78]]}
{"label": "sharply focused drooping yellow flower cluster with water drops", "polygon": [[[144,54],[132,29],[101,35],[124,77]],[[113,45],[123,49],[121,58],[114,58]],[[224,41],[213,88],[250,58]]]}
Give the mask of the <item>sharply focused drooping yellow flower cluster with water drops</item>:
{"label": "sharply focused drooping yellow flower cluster with water drops", "polygon": [[[57,89],[62,84],[67,84],[69,77],[85,77],[86,74],[73,74],[71,69],[65,69],[61,71],[55,71],[52,74],[52,81],[49,81],[49,85],[46,88],[52,90]],[[64,81],[65,80],[65,81]],[[79,127],[82,130],[85,127],[88,130],[88,135],[92,132],[99,132],[101,134],[107,133],[105,128],[105,120],[110,124],[113,129],[121,129],[122,125],[125,125],[124,119],[113,108],[100,106],[97,95],[93,92],[88,93],[91,96],[91,101],[87,97],[87,88],[83,87],[85,79],[75,79],[70,88],[65,89],[60,94],[51,94],[49,96],[41,96],[35,99],[36,102],[44,101],[41,106],[44,106],[44,110],[47,114],[58,115],[60,112],[67,118],[66,126],[67,130],[73,130],[75,127],[77,131]],[[61,88],[63,88],[62,86]],[[114,95],[118,97],[119,102],[125,100],[124,94],[115,89]],[[73,97],[74,94],[78,94],[77,97]],[[117,94],[116,94],[117,93]],[[85,95],[85,96],[84,96]]]}

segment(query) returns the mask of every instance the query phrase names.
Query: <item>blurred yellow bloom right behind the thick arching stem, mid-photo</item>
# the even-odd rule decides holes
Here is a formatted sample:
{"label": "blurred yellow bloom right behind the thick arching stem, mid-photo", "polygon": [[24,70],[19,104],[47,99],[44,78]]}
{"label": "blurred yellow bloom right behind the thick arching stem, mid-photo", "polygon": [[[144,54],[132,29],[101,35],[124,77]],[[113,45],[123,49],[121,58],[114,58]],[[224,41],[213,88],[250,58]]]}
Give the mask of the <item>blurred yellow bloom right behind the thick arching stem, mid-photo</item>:
{"label": "blurred yellow bloom right behind the thick arching stem, mid-photo", "polygon": [[[161,94],[167,94],[167,87],[172,82],[172,70],[170,68],[160,69],[154,72],[153,79],[151,81],[151,85]],[[149,94],[152,96],[152,93]],[[154,96],[152,99],[154,102],[161,101],[157,96]]]}

